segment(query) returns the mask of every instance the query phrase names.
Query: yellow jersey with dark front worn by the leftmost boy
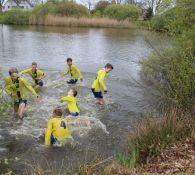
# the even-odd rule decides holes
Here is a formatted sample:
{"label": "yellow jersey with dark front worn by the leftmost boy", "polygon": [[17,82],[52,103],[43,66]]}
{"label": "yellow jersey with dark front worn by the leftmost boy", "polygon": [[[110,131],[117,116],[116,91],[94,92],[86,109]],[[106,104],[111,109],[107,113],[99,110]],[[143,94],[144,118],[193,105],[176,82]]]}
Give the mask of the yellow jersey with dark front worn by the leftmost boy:
{"label": "yellow jersey with dark front worn by the leftmost boy", "polygon": [[19,77],[16,81],[13,81],[11,77],[8,76],[5,79],[5,91],[8,95],[12,95],[15,102],[19,102],[20,99],[27,99],[25,89],[31,92],[35,97],[38,97],[36,91],[23,78]]}

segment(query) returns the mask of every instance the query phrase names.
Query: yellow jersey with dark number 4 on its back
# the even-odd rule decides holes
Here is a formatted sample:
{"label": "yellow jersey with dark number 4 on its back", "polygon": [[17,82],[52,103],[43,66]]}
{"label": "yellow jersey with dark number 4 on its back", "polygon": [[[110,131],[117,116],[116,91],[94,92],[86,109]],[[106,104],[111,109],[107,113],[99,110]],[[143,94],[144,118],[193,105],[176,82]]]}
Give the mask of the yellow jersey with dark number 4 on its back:
{"label": "yellow jersey with dark number 4 on its back", "polygon": [[51,144],[51,135],[53,135],[58,141],[70,138],[70,125],[66,118],[55,117],[48,121],[45,133],[45,145]]}

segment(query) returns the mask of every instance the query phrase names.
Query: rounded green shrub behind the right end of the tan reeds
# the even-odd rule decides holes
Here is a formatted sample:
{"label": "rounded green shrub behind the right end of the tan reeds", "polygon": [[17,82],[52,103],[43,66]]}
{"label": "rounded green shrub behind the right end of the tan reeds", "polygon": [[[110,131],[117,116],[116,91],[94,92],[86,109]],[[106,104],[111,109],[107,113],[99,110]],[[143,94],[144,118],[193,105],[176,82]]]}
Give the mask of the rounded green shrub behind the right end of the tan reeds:
{"label": "rounded green shrub behind the right end of the tan reeds", "polygon": [[140,14],[140,9],[134,5],[112,4],[106,7],[104,16],[117,20],[136,20]]}

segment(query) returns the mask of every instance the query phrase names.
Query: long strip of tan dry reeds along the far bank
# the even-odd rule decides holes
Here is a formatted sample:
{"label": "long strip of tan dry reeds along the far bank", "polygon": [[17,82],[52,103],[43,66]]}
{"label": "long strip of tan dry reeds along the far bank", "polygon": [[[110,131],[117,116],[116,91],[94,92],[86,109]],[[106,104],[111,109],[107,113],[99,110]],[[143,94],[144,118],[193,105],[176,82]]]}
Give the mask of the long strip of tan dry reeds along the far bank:
{"label": "long strip of tan dry reeds along the far bank", "polygon": [[66,27],[105,27],[105,28],[133,28],[129,21],[117,21],[107,18],[74,18],[65,16],[48,15],[45,17],[31,16],[30,25],[66,26]]}

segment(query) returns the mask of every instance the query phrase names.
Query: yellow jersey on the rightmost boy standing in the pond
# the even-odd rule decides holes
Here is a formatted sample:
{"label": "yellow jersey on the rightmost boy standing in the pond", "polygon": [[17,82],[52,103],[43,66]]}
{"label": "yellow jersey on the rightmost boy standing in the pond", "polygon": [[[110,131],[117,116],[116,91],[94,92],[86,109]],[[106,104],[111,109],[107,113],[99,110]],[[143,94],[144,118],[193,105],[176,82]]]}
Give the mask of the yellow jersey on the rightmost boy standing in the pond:
{"label": "yellow jersey on the rightmost boy standing in the pond", "polygon": [[106,71],[104,69],[98,71],[97,78],[93,81],[92,84],[92,89],[94,89],[95,92],[100,92],[102,89],[104,91],[107,91],[107,87],[104,82],[105,76],[106,76]]}

